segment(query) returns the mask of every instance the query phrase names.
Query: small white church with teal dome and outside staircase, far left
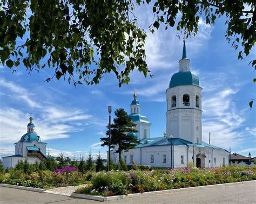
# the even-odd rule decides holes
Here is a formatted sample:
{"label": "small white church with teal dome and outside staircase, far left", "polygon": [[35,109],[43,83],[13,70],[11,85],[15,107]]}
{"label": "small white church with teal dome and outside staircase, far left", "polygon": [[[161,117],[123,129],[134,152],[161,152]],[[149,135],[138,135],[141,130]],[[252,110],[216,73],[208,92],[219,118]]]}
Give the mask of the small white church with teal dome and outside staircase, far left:
{"label": "small white church with teal dome and outside staircase, far left", "polygon": [[41,142],[40,136],[35,132],[32,116],[29,118],[28,131],[15,143],[15,154],[12,156],[2,157],[4,168],[15,167],[18,161],[25,159],[30,164],[40,163],[46,157],[46,144]]}

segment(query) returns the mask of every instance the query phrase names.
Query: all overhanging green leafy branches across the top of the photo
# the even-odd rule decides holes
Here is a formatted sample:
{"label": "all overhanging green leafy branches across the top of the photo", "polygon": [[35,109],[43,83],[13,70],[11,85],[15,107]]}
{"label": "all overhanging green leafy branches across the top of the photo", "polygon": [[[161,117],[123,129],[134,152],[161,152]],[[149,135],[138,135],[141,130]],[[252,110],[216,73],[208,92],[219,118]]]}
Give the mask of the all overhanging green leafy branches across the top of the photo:
{"label": "all overhanging green leafy branches across the top of the photo", "polygon": [[[136,2],[140,5],[152,1]],[[29,72],[48,66],[55,70],[57,80],[68,78],[74,85],[97,84],[104,74],[114,73],[121,86],[129,83],[129,74],[136,68],[147,76],[150,71],[145,61],[146,32],[132,13],[135,5],[131,0],[2,1],[2,64],[12,69],[23,64]],[[214,24],[217,17],[225,16],[227,41],[235,49],[238,44],[243,47],[239,59],[248,55],[255,43],[252,0],[159,0],[153,5],[152,15],[156,16],[150,26],[152,33],[153,28],[164,24],[165,29],[175,26],[186,37],[197,34],[200,17],[205,18],[206,24]],[[23,43],[17,45],[19,39]],[[256,60],[251,62],[254,67]],[[96,68],[91,69],[91,65]]]}

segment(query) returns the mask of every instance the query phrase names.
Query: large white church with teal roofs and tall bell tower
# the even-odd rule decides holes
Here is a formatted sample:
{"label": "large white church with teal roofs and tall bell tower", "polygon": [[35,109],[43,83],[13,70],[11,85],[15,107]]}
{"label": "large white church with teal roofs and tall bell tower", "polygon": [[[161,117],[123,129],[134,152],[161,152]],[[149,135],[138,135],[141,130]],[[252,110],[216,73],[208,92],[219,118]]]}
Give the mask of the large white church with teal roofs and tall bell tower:
{"label": "large white church with teal roofs and tall bell tower", "polygon": [[[140,140],[140,144],[122,152],[126,164],[142,164],[154,167],[218,167],[228,165],[230,152],[202,140],[202,88],[199,78],[190,70],[190,60],[186,57],[184,40],[183,56],[179,61],[179,71],[172,75],[166,89],[166,132],[164,137],[150,137],[151,123],[140,114],[137,95],[130,105],[129,115],[137,124],[137,133],[128,133]],[[118,163],[118,153],[114,148],[111,158]]]}

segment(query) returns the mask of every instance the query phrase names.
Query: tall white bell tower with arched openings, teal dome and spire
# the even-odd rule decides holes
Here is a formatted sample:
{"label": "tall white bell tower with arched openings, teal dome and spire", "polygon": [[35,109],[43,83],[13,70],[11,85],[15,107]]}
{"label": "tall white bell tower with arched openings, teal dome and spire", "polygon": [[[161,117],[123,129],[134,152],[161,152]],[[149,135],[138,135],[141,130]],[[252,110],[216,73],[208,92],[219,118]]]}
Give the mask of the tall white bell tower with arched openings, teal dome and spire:
{"label": "tall white bell tower with arched openings, teal dome and spire", "polygon": [[181,138],[194,144],[202,142],[201,91],[199,78],[190,71],[190,60],[186,56],[186,42],[183,41],[183,56],[179,71],[172,75],[166,90],[167,136]]}

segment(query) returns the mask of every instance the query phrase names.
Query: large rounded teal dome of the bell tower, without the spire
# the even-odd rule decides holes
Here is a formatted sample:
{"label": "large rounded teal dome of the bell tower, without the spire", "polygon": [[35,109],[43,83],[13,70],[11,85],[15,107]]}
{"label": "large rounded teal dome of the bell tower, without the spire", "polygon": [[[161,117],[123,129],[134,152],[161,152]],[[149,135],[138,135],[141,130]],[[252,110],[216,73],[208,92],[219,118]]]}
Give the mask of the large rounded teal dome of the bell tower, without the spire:
{"label": "large rounded teal dome of the bell tower, without the spire", "polygon": [[198,76],[191,71],[181,71],[172,75],[169,88],[184,85],[195,85],[199,87]]}

